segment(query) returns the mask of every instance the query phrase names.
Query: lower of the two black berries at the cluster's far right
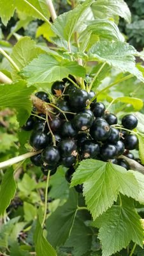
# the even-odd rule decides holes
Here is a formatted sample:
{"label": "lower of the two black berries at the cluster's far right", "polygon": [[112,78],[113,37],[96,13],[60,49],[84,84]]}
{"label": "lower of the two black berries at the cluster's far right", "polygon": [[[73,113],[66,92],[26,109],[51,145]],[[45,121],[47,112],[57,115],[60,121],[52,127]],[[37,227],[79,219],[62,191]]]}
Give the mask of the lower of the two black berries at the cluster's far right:
{"label": "lower of the two black berries at the cluster's far right", "polygon": [[129,134],[124,140],[126,149],[133,150],[138,147],[138,138],[134,134]]}

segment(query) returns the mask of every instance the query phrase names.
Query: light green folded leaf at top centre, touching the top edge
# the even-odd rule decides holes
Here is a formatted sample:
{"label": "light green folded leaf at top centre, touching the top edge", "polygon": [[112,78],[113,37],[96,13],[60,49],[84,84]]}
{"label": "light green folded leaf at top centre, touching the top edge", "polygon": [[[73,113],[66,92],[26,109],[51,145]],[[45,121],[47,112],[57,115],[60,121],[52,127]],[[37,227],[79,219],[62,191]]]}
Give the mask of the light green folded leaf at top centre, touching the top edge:
{"label": "light green folded leaf at top centre, touching the top edge", "polygon": [[87,12],[92,2],[94,1],[86,0],[83,4],[78,4],[74,10],[59,15],[52,25],[55,34],[69,41],[76,29],[78,29],[85,20],[85,12]]}

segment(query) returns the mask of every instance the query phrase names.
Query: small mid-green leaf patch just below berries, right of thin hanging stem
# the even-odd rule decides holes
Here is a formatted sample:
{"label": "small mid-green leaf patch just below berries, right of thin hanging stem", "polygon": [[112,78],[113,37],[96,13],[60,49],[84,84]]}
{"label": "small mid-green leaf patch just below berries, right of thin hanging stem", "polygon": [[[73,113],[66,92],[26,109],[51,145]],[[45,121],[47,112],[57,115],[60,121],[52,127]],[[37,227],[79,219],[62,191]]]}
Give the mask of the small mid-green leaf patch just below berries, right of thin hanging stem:
{"label": "small mid-green leaf patch just below berries, right of thin hanging stem", "polygon": [[50,178],[50,186],[52,186],[52,188],[50,189],[48,196],[55,199],[68,198],[69,184],[68,182],[66,182],[65,171],[66,171],[66,168],[64,168],[63,166],[59,166],[55,175]]}

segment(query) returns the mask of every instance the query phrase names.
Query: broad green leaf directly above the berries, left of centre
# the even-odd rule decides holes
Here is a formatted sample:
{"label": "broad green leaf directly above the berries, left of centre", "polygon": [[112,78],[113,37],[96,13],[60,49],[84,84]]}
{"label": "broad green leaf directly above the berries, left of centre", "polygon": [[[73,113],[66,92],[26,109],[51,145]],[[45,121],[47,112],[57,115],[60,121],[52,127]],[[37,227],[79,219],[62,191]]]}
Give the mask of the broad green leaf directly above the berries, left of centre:
{"label": "broad green leaf directly above the berries, left of centre", "polygon": [[76,61],[57,61],[53,56],[41,54],[22,69],[21,72],[28,77],[29,83],[51,83],[61,81],[62,78],[68,77],[69,74],[85,77],[85,68],[78,65]]}

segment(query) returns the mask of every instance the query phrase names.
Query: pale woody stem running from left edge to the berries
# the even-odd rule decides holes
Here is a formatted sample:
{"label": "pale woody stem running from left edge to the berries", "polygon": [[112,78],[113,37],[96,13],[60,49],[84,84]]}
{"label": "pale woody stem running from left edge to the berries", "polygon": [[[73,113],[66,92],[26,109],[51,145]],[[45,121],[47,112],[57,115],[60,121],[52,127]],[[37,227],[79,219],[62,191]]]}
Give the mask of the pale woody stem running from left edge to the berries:
{"label": "pale woody stem running from left edge to the berries", "polygon": [[27,158],[29,158],[31,156],[35,156],[37,154],[40,154],[41,151],[42,150],[35,151],[35,152],[29,152],[29,153],[26,153],[24,155],[16,156],[16,157],[13,157],[11,159],[8,159],[8,160],[0,163],[0,168],[4,168],[4,167],[10,166],[12,164],[19,163],[20,161],[23,161],[24,159],[27,159]]}

